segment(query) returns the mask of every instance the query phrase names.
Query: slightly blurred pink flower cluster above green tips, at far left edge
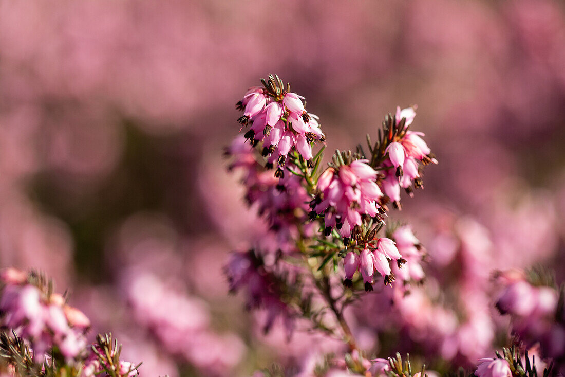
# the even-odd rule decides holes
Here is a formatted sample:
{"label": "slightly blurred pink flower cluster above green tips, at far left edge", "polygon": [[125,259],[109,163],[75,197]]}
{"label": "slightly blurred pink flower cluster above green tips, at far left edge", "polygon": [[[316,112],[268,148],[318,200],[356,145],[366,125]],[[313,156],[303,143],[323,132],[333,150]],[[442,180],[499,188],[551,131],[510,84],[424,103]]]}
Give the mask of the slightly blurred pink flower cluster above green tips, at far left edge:
{"label": "slightly blurred pink flower cluster above green tips, at far left edge", "polygon": [[56,347],[67,359],[76,358],[86,346],[84,332],[90,321],[68,306],[65,298],[51,292],[45,278],[14,268],[0,276],[2,326],[14,329],[31,342],[36,358]]}

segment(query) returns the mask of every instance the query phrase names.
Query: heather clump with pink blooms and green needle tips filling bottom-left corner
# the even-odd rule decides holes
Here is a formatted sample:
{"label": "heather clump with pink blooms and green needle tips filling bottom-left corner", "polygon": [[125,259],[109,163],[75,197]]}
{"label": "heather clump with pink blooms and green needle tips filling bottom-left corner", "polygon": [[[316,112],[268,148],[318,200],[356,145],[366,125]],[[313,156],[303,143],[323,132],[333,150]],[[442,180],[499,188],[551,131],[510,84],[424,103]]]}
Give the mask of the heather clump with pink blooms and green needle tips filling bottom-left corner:
{"label": "heather clump with pink blooms and green needle tips filling bottom-left corner", "polygon": [[90,320],[53,292],[42,273],[0,272],[0,372],[15,377],[133,377],[137,368],[120,360],[121,345],[98,335],[86,345]]}

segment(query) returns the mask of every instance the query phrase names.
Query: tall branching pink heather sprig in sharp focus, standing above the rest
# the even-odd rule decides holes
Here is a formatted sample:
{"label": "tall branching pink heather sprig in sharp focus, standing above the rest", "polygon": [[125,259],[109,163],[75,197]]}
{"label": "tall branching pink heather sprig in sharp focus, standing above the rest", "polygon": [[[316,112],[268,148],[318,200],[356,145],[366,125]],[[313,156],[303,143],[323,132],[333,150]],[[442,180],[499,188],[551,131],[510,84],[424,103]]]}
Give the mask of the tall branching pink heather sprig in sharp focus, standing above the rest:
{"label": "tall branching pink heather sprig in sharp focus, standing above the rest", "polygon": [[[241,174],[246,202],[268,226],[249,251],[232,254],[225,269],[231,289],[247,292],[248,308],[267,309],[266,328],[275,315],[289,328],[293,318],[302,317],[357,350],[344,318],[345,308],[358,298],[357,287],[372,290],[376,273],[385,285],[393,284],[396,273],[405,283],[423,278],[418,239],[400,231],[394,235],[397,247],[393,227],[387,227],[386,237],[381,232],[387,204],[400,208],[400,188],[422,187],[422,166],[437,161],[423,134],[408,130],[415,107],[398,108],[385,118],[375,144],[367,138],[370,153],[360,145],[355,152],[336,151],[320,173],[325,144],[312,152],[316,142],[325,142],[319,118],[279,76],[261,81],[262,87],[250,88],[236,105],[243,112],[241,128],[249,130],[226,155],[228,169]],[[268,170],[275,163],[273,177]],[[342,265],[345,286],[340,287],[336,276]],[[404,271],[405,265],[410,269]],[[362,284],[354,278],[357,272]],[[332,320],[323,315],[328,311]]]}

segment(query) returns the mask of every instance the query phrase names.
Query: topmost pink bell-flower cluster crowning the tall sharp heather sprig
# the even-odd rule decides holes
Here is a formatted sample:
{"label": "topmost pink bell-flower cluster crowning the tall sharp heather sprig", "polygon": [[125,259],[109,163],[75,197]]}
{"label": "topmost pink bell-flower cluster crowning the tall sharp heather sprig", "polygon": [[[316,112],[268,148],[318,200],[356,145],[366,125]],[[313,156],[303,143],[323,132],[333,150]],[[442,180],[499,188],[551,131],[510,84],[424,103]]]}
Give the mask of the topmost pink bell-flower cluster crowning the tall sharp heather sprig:
{"label": "topmost pink bell-flower cluster crowning the tall sharp heather sprig", "polygon": [[276,176],[284,176],[286,158],[292,149],[305,160],[312,159],[312,143],[325,140],[320,130],[318,117],[307,113],[302,102],[305,98],[290,92],[279,76],[269,75],[262,79],[263,87],[252,87],[244,98],[237,102],[236,108],[244,114],[238,121],[249,126],[245,138],[252,145],[263,142],[263,156],[268,156],[267,164],[277,162]]}

